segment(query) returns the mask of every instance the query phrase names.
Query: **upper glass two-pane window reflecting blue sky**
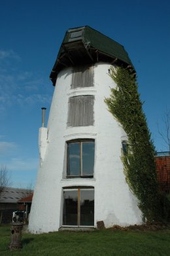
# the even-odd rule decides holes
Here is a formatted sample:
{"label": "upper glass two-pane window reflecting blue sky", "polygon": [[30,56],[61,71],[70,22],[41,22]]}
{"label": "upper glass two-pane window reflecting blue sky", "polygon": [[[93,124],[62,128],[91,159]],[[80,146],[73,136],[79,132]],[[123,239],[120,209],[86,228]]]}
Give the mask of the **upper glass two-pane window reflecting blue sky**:
{"label": "upper glass two-pane window reflecting blue sky", "polygon": [[94,141],[67,142],[67,177],[93,177]]}

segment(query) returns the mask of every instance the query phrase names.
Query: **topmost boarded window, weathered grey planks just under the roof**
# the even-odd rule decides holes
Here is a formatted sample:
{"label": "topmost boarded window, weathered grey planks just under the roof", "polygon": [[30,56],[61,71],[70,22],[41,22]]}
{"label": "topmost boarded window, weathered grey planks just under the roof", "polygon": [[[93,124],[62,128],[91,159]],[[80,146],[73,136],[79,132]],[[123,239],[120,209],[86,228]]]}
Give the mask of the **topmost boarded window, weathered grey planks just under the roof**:
{"label": "topmost boarded window, weathered grey planks just under the roof", "polygon": [[71,89],[93,86],[93,66],[78,66],[73,69]]}

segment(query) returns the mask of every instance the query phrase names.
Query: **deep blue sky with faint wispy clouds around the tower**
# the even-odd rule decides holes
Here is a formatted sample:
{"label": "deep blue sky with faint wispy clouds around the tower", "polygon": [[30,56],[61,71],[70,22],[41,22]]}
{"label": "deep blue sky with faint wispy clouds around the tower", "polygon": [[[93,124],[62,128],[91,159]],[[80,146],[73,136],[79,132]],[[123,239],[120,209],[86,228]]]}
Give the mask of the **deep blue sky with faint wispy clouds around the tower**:
{"label": "deep blue sky with faint wispy clouds around the tower", "polygon": [[135,66],[144,113],[158,151],[158,134],[170,110],[170,2],[150,1],[0,1],[0,165],[13,187],[35,184],[41,107],[54,87],[50,71],[65,31],[91,26],[124,45]]}

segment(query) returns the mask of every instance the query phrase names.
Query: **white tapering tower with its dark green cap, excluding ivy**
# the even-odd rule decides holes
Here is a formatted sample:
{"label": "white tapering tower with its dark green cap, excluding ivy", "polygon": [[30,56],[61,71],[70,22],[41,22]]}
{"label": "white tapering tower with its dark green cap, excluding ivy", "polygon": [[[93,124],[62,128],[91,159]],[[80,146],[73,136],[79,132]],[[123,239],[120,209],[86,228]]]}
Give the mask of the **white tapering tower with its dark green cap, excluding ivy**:
{"label": "white tapering tower with its dark green cap, excluding ivy", "polygon": [[69,29],[50,78],[54,96],[40,128],[40,167],[29,230],[141,223],[120,160],[126,134],[107,110],[110,65],[133,65],[122,45],[91,27]]}

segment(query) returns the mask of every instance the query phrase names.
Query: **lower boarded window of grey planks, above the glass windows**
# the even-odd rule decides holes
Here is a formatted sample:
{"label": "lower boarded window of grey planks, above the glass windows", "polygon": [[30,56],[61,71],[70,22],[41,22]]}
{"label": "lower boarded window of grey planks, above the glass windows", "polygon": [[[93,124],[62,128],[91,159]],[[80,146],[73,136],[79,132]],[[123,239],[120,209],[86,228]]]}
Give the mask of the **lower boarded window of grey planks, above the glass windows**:
{"label": "lower boarded window of grey planks, above the glass windows", "polygon": [[93,125],[93,104],[93,95],[69,98],[67,126]]}

